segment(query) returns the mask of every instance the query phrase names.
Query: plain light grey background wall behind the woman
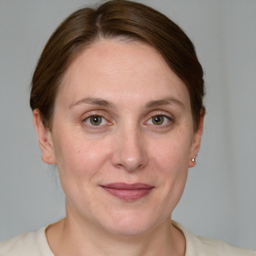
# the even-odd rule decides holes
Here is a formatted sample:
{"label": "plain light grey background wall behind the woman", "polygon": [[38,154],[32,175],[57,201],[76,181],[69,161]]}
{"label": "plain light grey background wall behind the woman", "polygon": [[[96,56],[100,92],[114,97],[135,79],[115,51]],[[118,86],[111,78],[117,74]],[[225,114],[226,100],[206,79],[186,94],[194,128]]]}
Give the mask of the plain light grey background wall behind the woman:
{"label": "plain light grey background wall behind the woman", "polygon": [[[0,0],[0,240],[63,217],[54,170],[40,159],[29,81],[44,43],[93,0]],[[197,164],[172,218],[188,230],[256,249],[256,1],[141,0],[177,22],[205,70]]]}

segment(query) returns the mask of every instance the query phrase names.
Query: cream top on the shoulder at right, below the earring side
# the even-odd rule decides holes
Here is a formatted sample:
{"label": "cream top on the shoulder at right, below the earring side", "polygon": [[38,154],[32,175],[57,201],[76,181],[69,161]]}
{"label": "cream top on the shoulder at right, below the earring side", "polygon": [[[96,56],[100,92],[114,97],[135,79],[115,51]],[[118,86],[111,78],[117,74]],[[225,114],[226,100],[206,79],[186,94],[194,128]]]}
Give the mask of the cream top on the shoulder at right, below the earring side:
{"label": "cream top on the shoulder at right, below the earring side", "polygon": [[256,251],[238,248],[223,241],[194,235],[175,221],[172,221],[172,224],[180,229],[185,236],[185,256],[256,256]]}

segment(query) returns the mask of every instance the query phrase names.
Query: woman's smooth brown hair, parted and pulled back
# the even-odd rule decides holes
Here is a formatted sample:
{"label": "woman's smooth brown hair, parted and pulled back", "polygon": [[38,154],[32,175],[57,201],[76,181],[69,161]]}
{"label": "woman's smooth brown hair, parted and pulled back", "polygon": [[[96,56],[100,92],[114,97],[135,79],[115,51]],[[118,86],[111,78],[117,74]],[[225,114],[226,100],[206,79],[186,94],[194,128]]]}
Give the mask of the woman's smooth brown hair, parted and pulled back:
{"label": "woman's smooth brown hair, parted and pulled back", "polygon": [[128,0],[78,9],[50,36],[35,67],[30,93],[30,107],[39,109],[43,125],[52,128],[56,94],[75,56],[97,40],[114,38],[145,42],[162,55],[188,89],[193,127],[197,130],[204,113],[204,81],[193,43],[159,11]]}

